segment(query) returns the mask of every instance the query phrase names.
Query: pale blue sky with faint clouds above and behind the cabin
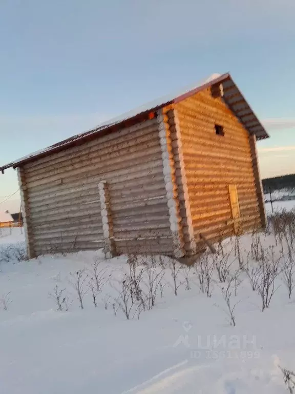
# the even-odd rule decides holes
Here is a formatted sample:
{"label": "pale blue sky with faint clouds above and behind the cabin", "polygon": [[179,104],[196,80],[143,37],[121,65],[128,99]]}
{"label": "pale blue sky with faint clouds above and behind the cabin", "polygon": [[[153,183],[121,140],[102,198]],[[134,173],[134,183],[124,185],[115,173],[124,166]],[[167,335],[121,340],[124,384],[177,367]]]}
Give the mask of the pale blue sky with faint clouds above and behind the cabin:
{"label": "pale blue sky with faint clouds above and behind the cabin", "polygon": [[[229,71],[295,172],[294,0],[2,0],[0,164]],[[3,196],[18,188],[0,176]]]}

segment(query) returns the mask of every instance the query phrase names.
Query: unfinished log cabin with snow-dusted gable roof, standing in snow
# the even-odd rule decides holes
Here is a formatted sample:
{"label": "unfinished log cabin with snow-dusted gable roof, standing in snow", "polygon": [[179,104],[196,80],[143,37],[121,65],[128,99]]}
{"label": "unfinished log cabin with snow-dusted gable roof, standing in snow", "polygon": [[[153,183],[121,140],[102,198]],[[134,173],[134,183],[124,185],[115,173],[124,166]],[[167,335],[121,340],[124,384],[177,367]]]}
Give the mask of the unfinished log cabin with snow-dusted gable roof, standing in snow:
{"label": "unfinished log cabin with snow-dusted gable roof, standing in snow", "polygon": [[230,74],[0,167],[17,169],[30,258],[104,248],[196,255],[266,225],[256,141]]}

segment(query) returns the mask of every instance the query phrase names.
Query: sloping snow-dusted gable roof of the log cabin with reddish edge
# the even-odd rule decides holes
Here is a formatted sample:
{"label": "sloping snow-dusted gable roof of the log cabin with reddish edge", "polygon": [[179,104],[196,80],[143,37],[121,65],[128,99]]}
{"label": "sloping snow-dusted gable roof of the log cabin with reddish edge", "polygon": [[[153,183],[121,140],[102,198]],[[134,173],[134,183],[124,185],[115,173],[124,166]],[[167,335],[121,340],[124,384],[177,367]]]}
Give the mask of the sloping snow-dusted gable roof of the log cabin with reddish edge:
{"label": "sloping snow-dusted gable roof of the log cabin with reddish edge", "polygon": [[77,143],[82,143],[90,138],[95,137],[98,134],[102,134],[103,131],[112,129],[114,126],[118,126],[119,124],[124,123],[125,121],[131,119],[140,119],[140,117],[142,117],[144,114],[156,111],[169,104],[178,103],[186,99],[186,97],[189,97],[203,89],[206,89],[218,83],[222,84],[223,100],[225,104],[235,113],[240,122],[249,131],[249,133],[256,134],[258,140],[267,138],[267,132],[257,119],[255,113],[249,107],[248,103],[246,102],[242,93],[239,91],[238,87],[234,83],[230,74],[226,73],[221,75],[215,73],[210,75],[208,78],[200,81],[194,87],[187,87],[186,89],[182,89],[180,92],[160,97],[159,99],[146,103],[117,117],[114,117],[110,121],[104,122],[91,130],[73,135],[72,137],[64,141],[60,141],[45,149],[41,149],[30,153],[24,157],[21,157],[20,159],[12,163],[0,167],[0,171],[4,172],[4,170],[9,167],[16,168],[19,165],[23,165],[29,161],[36,160],[40,156],[45,156],[47,154],[54,153],[66,149],[70,146],[76,145]]}

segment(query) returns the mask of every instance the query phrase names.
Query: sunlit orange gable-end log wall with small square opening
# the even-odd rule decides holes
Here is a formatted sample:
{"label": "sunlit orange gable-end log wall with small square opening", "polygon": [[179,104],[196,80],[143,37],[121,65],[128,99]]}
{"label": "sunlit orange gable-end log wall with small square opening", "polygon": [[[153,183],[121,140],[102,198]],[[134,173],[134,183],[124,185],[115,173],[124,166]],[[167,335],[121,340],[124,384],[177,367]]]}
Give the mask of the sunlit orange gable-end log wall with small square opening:
{"label": "sunlit orange gable-end log wall with small square opening", "polygon": [[[203,90],[175,105],[195,239],[233,234],[228,185],[237,185],[243,230],[261,226],[250,135],[221,97]],[[215,124],[224,127],[217,135]],[[181,168],[178,169],[179,176]]]}

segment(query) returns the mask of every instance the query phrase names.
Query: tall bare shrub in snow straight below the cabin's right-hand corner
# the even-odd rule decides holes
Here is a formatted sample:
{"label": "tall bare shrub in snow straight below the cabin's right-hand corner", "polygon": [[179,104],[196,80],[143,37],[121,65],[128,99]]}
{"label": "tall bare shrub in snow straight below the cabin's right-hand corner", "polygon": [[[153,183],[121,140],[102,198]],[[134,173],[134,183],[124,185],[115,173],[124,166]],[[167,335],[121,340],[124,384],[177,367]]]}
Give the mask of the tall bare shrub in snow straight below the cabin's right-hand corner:
{"label": "tall bare shrub in snow straight below the cabin's right-hand corner", "polygon": [[260,274],[257,281],[257,291],[262,300],[262,311],[269,307],[270,301],[275,294],[277,287],[275,282],[280,274],[280,260],[281,256],[275,258],[273,247],[270,248],[270,253],[263,253],[264,260],[260,263]]}

